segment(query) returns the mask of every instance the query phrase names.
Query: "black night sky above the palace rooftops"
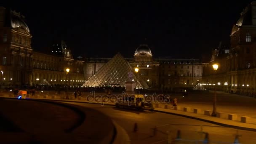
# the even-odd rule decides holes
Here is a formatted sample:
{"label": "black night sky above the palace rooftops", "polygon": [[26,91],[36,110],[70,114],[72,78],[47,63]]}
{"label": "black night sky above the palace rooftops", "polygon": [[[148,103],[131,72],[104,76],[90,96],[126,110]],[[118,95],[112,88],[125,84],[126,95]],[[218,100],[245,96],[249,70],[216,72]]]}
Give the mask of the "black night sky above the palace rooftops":
{"label": "black night sky above the palace rooftops", "polygon": [[74,56],[112,57],[119,51],[132,57],[146,37],[154,57],[200,58],[219,41],[229,43],[232,25],[251,1],[93,0],[58,5],[21,1],[3,5],[26,16],[36,50],[61,39]]}

